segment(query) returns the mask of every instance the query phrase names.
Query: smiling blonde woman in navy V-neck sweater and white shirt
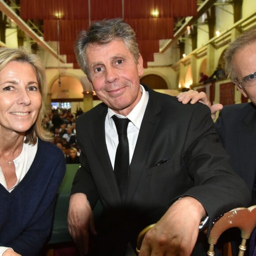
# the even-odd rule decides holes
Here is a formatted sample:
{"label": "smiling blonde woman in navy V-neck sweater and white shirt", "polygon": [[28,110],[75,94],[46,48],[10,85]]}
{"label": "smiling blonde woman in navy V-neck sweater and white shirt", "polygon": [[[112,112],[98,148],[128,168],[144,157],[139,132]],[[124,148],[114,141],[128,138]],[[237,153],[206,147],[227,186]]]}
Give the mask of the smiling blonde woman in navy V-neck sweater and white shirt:
{"label": "smiling blonde woman in navy V-neck sweater and white shirt", "polygon": [[35,256],[51,231],[63,153],[43,127],[47,97],[41,59],[0,48],[0,255]]}

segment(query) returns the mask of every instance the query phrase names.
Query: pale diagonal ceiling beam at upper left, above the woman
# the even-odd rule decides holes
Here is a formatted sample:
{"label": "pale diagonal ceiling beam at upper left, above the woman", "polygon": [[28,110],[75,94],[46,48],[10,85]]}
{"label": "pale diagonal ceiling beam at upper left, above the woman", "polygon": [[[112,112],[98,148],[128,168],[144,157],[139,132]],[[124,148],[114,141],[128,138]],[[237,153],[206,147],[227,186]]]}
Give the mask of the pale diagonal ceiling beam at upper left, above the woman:
{"label": "pale diagonal ceiling beam at upper left, above the woman", "polygon": [[5,2],[0,0],[0,11],[2,11],[13,23],[15,23],[24,33],[33,39],[43,49],[56,57],[60,62],[67,63],[58,53],[49,46],[41,37],[38,36]]}

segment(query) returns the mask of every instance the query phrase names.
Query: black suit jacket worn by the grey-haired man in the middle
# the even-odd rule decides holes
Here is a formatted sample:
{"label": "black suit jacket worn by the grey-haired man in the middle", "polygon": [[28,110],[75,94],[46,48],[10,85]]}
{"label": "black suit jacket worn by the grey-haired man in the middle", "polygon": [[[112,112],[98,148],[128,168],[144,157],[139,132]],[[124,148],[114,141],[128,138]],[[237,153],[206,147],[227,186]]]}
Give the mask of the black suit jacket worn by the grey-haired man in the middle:
{"label": "black suit jacket worn by the grey-haired man in the middle", "polygon": [[[251,200],[245,183],[231,170],[209,108],[200,103],[183,105],[176,97],[145,89],[149,101],[124,202],[105,142],[107,106],[97,105],[76,122],[81,168],[75,175],[72,194],[85,193],[92,207],[101,201],[106,221],[99,221],[98,228],[105,229],[108,238],[118,244],[128,237],[135,245],[139,231],[157,222],[181,196],[199,200],[210,223],[234,207],[248,206]],[[165,158],[168,162],[157,166]]]}

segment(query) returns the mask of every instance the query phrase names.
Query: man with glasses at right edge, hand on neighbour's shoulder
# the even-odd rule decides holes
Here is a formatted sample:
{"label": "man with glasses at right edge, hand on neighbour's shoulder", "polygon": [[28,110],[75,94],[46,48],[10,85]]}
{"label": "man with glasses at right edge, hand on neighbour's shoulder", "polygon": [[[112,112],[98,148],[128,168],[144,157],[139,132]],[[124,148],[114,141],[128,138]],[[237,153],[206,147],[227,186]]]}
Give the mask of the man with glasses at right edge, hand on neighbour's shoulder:
{"label": "man with glasses at right edge, hand on neighbour's shoulder", "polygon": [[[222,145],[230,155],[230,163],[235,173],[243,178],[252,193],[252,203],[256,204],[256,29],[241,34],[226,49],[225,69],[249,103],[222,106],[211,105],[203,92],[189,90],[179,94],[178,101],[186,104],[200,101],[206,104],[215,119],[218,110],[222,111],[215,122]],[[233,247],[234,248],[234,247]],[[236,252],[234,252],[236,253]],[[236,255],[236,254],[233,254]]]}

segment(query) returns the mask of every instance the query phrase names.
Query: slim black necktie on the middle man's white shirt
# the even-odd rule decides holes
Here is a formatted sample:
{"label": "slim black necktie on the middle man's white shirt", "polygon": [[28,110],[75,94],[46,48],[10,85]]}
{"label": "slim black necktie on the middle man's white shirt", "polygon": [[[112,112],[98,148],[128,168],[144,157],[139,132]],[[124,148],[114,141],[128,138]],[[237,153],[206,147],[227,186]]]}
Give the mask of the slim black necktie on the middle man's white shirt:
{"label": "slim black necktie on the middle man's white shirt", "polygon": [[129,176],[129,143],[127,138],[128,118],[112,117],[118,133],[118,146],[115,157],[114,172],[122,201],[125,199]]}

